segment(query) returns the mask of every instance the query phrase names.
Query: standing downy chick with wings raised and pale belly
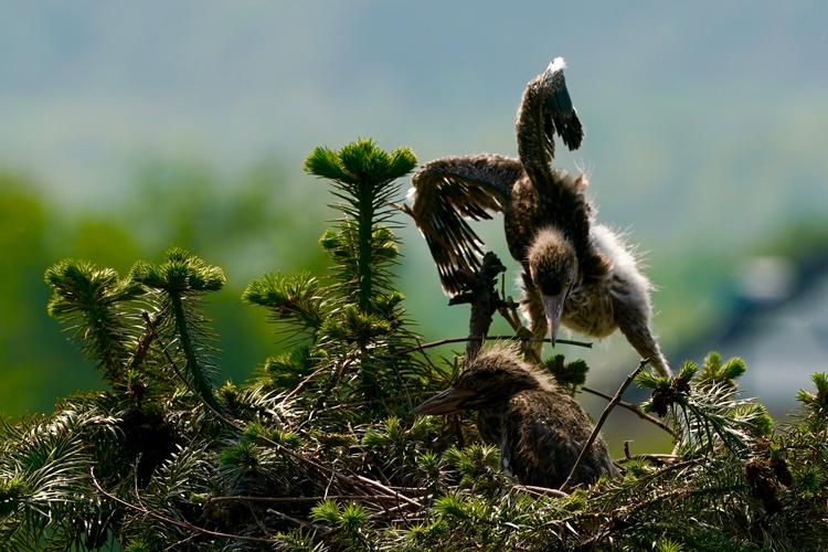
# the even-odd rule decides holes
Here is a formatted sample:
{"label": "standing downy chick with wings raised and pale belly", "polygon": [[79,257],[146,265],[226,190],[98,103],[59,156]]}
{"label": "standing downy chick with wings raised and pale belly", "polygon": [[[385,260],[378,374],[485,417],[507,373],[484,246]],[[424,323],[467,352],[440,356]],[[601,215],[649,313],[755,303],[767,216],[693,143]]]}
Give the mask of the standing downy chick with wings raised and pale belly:
{"label": "standing downy chick with wings raised and pale belly", "polygon": [[[650,284],[622,240],[594,221],[583,174],[552,168],[553,137],[570,149],[583,129],[556,57],[529,82],[518,110],[519,159],[447,157],[414,174],[408,213],[428,243],[444,290],[461,291],[480,266],[482,242],[466,220],[503,213],[509,252],[523,266],[523,312],[535,338],[561,325],[603,338],[616,329],[661,374],[669,365],[649,329]],[[535,352],[540,357],[542,342]]]}

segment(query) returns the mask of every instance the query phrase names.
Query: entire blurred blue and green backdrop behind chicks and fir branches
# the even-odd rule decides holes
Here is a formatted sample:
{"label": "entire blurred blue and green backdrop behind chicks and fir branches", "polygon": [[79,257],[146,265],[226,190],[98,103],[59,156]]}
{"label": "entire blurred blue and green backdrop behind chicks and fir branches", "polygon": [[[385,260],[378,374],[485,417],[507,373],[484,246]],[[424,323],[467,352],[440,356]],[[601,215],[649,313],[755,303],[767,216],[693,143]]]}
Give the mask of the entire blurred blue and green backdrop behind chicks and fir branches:
{"label": "entire blurred blue and green backdrop behind chicks and fir branches", "polygon": [[[587,131],[558,162],[590,173],[601,220],[647,253],[671,361],[744,355],[746,391],[777,413],[826,369],[824,2],[0,8],[4,415],[100,385],[45,315],[52,263],[125,272],[180,245],[223,266],[210,315],[222,375],[243,380],[276,339],[241,290],[266,272],[323,267],[316,240],[335,213],[304,156],[360,136],[421,161],[514,155],[523,86],[556,55]],[[404,222],[401,287],[418,330],[464,335],[467,307],[446,308]],[[506,259],[500,233],[500,221],[485,225]],[[611,391],[635,358],[623,338],[605,343],[586,357],[591,384]]]}

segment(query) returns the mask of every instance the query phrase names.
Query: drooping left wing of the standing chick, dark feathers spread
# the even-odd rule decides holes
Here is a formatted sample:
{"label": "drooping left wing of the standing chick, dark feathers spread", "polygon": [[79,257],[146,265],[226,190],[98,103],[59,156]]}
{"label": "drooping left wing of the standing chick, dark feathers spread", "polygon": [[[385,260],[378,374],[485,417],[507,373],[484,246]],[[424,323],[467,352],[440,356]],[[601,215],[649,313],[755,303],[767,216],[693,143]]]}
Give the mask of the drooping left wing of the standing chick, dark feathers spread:
{"label": "drooping left wing of the standing chick, dark feathers spread", "polygon": [[492,155],[436,159],[414,173],[407,211],[428,243],[447,294],[459,294],[463,274],[480,266],[482,242],[465,219],[491,219],[490,212],[502,211],[523,174],[517,159]]}

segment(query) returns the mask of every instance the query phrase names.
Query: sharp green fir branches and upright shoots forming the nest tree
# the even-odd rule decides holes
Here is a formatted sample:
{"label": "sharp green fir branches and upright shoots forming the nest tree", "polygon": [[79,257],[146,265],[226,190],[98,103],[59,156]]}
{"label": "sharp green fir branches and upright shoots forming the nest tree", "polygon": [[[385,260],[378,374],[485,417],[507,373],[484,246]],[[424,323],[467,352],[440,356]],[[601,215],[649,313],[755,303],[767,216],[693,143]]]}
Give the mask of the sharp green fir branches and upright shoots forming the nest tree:
{"label": "sharp green fir branches and upright shoots forming the nest tree", "polygon": [[[390,198],[411,163],[391,169],[393,156],[370,141],[326,155],[354,149],[361,171],[352,172],[367,185],[338,188],[360,206],[341,209],[322,241],[335,270],[318,279],[265,276],[244,293],[290,337],[290,350],[247,383],[211,378],[214,338],[201,300],[224,285],[217,266],[172,248],[163,263],[138,262],[125,276],[76,261],[47,270],[51,314],[108,389],[60,400],[50,415],[0,423],[0,542],[13,550],[828,545],[825,374],[814,375],[816,392],[798,394],[799,418],[774,427],[761,404],[740,396],[741,359],[711,353],[671,379],[643,372],[637,382],[651,391],[643,408],[666,416],[676,454],[626,456],[622,477],[569,493],[516,485],[466,415],[411,417],[411,405],[455,378],[456,367],[426,355],[407,328],[385,270],[396,255],[389,219],[369,215],[372,201],[348,201]],[[586,369],[563,358],[546,368],[572,391]]]}

